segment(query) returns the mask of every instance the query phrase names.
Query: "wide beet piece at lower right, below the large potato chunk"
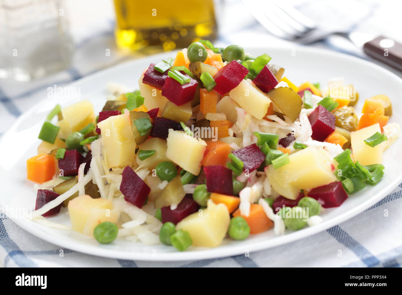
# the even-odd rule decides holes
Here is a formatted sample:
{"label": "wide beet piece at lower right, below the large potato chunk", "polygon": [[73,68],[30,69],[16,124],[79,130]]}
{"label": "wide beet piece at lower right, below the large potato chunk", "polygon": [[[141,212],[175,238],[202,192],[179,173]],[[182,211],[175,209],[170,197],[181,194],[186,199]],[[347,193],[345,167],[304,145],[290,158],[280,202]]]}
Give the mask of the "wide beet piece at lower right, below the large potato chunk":
{"label": "wide beet piece at lower right, below the large potato chunk", "polygon": [[324,208],[339,207],[348,195],[343,189],[341,181],[334,181],[326,185],[312,189],[308,194],[318,201]]}

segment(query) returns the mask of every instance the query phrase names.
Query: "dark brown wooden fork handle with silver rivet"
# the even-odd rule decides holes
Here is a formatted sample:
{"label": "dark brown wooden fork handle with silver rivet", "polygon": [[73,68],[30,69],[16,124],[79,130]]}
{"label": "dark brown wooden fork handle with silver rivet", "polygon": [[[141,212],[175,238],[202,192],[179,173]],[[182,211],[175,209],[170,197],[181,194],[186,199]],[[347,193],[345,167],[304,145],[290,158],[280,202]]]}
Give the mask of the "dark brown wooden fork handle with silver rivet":
{"label": "dark brown wooden fork handle with silver rivet", "polygon": [[402,44],[393,39],[379,36],[363,45],[363,51],[402,71]]}

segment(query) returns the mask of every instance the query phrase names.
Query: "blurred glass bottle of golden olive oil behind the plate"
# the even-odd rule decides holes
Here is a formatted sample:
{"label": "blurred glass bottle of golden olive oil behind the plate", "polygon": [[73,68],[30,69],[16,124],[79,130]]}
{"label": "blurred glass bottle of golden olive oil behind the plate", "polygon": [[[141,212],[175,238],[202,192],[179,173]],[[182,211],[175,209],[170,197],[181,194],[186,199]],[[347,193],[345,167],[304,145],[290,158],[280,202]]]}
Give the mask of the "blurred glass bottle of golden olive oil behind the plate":
{"label": "blurred glass bottle of golden olive oil behind the plate", "polygon": [[114,0],[123,51],[170,51],[216,37],[213,0]]}

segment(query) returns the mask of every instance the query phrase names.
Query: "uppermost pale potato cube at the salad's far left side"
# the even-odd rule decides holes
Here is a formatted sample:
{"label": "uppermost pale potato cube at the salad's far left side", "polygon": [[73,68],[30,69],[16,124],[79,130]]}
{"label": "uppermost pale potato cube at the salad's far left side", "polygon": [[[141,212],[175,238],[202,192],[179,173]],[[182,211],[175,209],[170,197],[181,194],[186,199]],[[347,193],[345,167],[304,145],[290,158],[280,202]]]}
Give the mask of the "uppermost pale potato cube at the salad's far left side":
{"label": "uppermost pale potato cube at the salad's far left side", "polygon": [[80,131],[95,120],[94,106],[89,100],[82,100],[62,108],[63,121],[67,121],[72,132]]}

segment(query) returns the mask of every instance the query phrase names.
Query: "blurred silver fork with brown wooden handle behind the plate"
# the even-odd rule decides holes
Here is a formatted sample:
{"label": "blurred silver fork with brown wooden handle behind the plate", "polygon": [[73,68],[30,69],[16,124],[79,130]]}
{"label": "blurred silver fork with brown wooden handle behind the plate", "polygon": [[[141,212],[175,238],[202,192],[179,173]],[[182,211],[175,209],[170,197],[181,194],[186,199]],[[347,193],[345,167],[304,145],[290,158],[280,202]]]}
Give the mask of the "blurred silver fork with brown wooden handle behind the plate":
{"label": "blurred silver fork with brown wooden handle behind the plate", "polygon": [[[363,51],[402,71],[402,44],[379,36],[349,32],[346,28],[323,30],[317,24],[281,0],[242,0],[250,14],[271,34],[299,44],[308,45],[325,39],[330,35],[339,35],[349,39]],[[255,9],[258,7],[258,9]]]}

